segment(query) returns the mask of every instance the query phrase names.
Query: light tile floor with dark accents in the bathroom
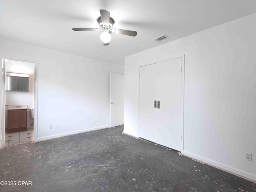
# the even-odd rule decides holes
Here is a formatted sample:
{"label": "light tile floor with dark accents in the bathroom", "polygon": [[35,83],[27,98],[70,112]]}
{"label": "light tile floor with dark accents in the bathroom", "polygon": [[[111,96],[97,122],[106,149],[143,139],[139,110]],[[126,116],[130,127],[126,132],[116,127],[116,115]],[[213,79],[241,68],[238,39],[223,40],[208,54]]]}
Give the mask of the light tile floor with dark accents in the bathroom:
{"label": "light tile floor with dark accents in the bathroom", "polygon": [[27,131],[5,133],[4,146],[15,145],[19,143],[31,142],[34,140],[34,128],[28,128]]}

